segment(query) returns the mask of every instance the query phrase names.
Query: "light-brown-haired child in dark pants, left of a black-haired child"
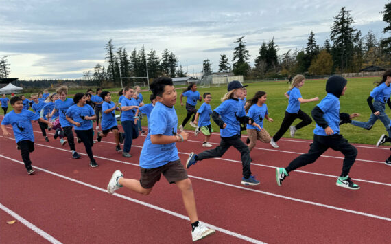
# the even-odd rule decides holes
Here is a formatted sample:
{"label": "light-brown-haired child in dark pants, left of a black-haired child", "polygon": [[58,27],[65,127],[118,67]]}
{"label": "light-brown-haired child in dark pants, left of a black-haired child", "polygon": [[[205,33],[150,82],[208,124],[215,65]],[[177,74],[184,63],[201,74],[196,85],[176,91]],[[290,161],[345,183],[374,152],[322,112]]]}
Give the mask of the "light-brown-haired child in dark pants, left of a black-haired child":
{"label": "light-brown-haired child in dark pants, left of a black-haired child", "polygon": [[67,110],[74,103],[71,98],[67,98],[67,94],[68,94],[68,87],[67,86],[58,87],[56,92],[57,92],[60,99],[58,99],[58,100],[56,100],[56,102],[54,102],[54,109],[53,109],[53,111],[51,111],[49,118],[52,118],[54,113],[56,113],[58,111],[58,118],[59,118],[60,124],[62,126],[62,129],[64,129],[64,131],[62,131],[61,129],[56,129],[54,139],[56,139],[56,134],[57,135],[60,135],[60,134],[65,135],[68,139],[69,148],[71,148],[72,157],[74,159],[78,159],[78,158],[80,158],[80,155],[78,154],[78,152],[76,152],[75,137],[73,137],[73,131],[72,131],[73,124],[71,124],[67,120],[67,117],[66,117]]}

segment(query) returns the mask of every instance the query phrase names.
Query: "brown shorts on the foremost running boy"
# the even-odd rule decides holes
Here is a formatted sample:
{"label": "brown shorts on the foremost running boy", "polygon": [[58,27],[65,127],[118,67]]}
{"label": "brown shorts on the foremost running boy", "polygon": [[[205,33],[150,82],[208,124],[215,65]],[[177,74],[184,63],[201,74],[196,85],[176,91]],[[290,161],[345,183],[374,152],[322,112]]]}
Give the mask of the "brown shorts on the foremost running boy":
{"label": "brown shorts on the foremost running boy", "polygon": [[163,174],[169,184],[181,181],[182,179],[189,178],[185,167],[180,162],[180,159],[176,161],[168,162],[167,164],[158,168],[141,168],[140,184],[143,188],[152,188],[154,184],[161,179]]}

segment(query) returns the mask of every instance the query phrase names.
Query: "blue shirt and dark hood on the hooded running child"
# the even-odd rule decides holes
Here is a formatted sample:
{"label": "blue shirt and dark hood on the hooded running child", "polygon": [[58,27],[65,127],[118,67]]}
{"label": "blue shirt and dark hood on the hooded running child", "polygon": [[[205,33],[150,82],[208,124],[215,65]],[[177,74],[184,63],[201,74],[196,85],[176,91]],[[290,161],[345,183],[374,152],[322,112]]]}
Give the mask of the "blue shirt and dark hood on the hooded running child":
{"label": "blue shirt and dark hood on the hooded running child", "polygon": [[347,80],[342,76],[331,76],[327,80],[327,96],[311,112],[316,122],[314,134],[327,135],[324,129],[328,126],[333,130],[333,134],[340,133],[340,96],[346,83]]}

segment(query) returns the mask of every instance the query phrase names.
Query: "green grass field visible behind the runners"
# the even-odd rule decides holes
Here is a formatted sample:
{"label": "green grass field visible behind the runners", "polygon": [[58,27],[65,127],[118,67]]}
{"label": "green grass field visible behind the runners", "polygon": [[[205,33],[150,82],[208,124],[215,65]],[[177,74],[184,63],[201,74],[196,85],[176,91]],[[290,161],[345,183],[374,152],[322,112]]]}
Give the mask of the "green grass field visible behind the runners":
{"label": "green grass field visible behind the runners", "polygon": [[[366,102],[366,98],[368,98],[370,91],[374,88],[373,82],[379,80],[379,77],[370,77],[370,78],[348,78],[348,89],[346,90],[345,96],[342,96],[340,98],[341,103],[341,112],[346,113],[360,113],[361,116],[356,118],[356,120],[359,121],[367,121],[371,111],[368,107],[368,104]],[[300,93],[303,96],[303,98],[313,98],[315,96],[318,96],[320,100],[326,96],[326,80],[306,80],[305,85],[300,88]],[[287,91],[288,85],[286,82],[260,82],[260,83],[250,83],[247,87],[248,90],[248,96],[247,98],[250,99],[252,96],[254,96],[254,93],[257,91],[266,91],[268,94],[268,100],[266,104],[268,105],[268,111],[270,118],[274,119],[274,122],[264,122],[264,128],[266,131],[270,133],[270,135],[274,135],[276,131],[278,131],[281,122],[283,120],[285,109],[287,107],[287,98],[285,98],[284,93]],[[112,91],[112,100],[117,101],[118,96],[116,92],[119,89],[108,89],[108,91]],[[178,120],[179,123],[182,122],[182,120],[186,117],[186,109],[185,106],[180,106],[180,100],[179,96],[180,93],[182,93],[183,88],[177,88],[178,92],[178,100],[176,104],[176,111],[178,114]],[[212,109],[215,109],[221,101],[220,98],[226,93],[226,87],[210,87],[210,88],[203,88],[200,87],[198,89],[200,94],[203,94],[205,92],[209,92],[212,95],[212,102],[211,107]],[[71,90],[69,91],[70,96],[72,97],[72,94],[80,92],[79,90]],[[82,91],[84,92],[84,91]],[[141,92],[143,94],[143,99],[145,103],[148,103],[148,99],[150,96],[150,92],[143,91]],[[27,97],[29,94],[25,94]],[[184,103],[186,101],[186,98],[183,99]],[[201,102],[198,103],[197,108],[200,107]],[[305,113],[308,113],[311,115],[311,110],[313,107],[316,106],[318,102],[309,102],[307,104],[302,104],[301,109],[305,111]],[[388,107],[388,106],[386,106]],[[12,107],[9,105],[8,111],[12,110]],[[389,110],[386,109],[386,111],[389,113]],[[1,113],[3,114],[3,111],[1,110]],[[294,124],[298,124],[299,120],[296,120]],[[147,118],[144,118],[142,120],[142,125],[147,126]],[[95,124],[94,124],[95,126]],[[213,130],[215,132],[220,131],[218,126],[212,122]],[[315,122],[310,124],[309,126],[306,126],[303,129],[300,129],[296,132],[297,138],[303,138],[303,139],[312,139],[313,137],[313,129],[315,127]],[[185,129],[193,129],[189,124],[185,126]],[[244,131],[246,133],[246,131]],[[352,143],[362,143],[362,144],[376,144],[377,140],[379,139],[380,135],[383,133],[386,133],[386,130],[384,129],[383,124],[380,121],[377,121],[373,128],[370,131],[367,131],[365,129],[361,129],[356,126],[352,126],[351,124],[344,124],[340,127],[340,133],[348,139],[349,142]],[[283,137],[289,137],[289,130]]]}

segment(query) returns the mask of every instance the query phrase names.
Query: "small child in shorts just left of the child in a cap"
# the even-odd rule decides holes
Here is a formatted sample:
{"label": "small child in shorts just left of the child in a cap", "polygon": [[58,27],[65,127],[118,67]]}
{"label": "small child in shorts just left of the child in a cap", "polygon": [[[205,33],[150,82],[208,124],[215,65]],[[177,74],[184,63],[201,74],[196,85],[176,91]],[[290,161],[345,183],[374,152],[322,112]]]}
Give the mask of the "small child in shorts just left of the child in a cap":
{"label": "small child in shorts just left of the child in a cap", "polygon": [[[201,131],[202,134],[205,135],[202,146],[212,147],[212,144],[209,144],[209,138],[211,138],[213,132],[211,125],[212,107],[210,105],[212,96],[211,93],[206,92],[202,97],[204,98],[204,103],[201,105],[200,109],[198,109],[197,113],[195,113],[194,124],[198,124],[198,127],[195,129],[194,135],[197,136]],[[200,118],[200,121],[198,121],[198,118]]]}

